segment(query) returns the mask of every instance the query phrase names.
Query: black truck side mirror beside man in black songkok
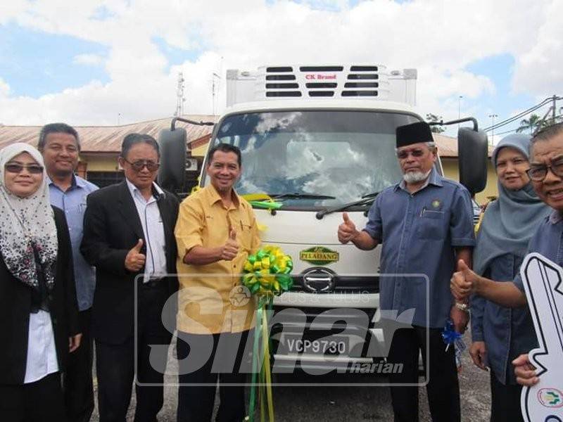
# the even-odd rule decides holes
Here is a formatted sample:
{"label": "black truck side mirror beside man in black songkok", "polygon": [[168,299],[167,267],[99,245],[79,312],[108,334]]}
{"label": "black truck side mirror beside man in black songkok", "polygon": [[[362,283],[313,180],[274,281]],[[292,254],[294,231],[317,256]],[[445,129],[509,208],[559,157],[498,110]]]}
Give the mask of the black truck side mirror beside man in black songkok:
{"label": "black truck side mirror beside man in black songkok", "polygon": [[485,132],[469,127],[457,131],[460,183],[474,195],[487,184],[488,141]]}

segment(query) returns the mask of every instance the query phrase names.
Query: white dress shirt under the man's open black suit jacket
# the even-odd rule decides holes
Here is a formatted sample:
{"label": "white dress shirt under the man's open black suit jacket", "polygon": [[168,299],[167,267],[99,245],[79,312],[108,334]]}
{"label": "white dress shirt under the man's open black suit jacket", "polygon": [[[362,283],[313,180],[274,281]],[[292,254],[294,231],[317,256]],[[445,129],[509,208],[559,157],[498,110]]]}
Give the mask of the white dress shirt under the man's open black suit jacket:
{"label": "white dress shirt under the man's open black suit jacket", "polygon": [[[153,186],[158,196],[165,194],[156,183]],[[154,195],[146,200],[141,195],[141,191],[129,180],[127,180],[127,187],[129,187],[129,192],[137,207],[145,236],[146,260],[143,281],[146,283],[151,278],[160,278],[167,274],[163,219],[158,210],[158,199]]]}

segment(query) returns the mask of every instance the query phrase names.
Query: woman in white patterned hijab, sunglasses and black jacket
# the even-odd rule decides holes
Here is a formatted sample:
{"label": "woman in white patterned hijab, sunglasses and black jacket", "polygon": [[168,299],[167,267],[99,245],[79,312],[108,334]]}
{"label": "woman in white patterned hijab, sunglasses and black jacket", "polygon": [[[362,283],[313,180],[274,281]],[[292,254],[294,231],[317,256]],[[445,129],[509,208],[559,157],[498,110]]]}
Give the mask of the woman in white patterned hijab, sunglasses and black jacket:
{"label": "woman in white patterned hijab, sunglasses and black jacket", "polygon": [[42,155],[0,151],[0,421],[65,421],[61,373],[80,346],[70,238]]}

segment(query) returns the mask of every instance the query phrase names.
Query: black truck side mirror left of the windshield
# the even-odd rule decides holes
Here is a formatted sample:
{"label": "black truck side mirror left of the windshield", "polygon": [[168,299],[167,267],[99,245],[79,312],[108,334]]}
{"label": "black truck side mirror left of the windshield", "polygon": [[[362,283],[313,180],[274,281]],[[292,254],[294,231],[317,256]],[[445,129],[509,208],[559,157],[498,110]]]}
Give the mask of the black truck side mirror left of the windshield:
{"label": "black truck side mirror left of the windshield", "polygon": [[162,129],[158,134],[160,170],[158,184],[168,191],[178,191],[184,186],[186,175],[186,129]]}

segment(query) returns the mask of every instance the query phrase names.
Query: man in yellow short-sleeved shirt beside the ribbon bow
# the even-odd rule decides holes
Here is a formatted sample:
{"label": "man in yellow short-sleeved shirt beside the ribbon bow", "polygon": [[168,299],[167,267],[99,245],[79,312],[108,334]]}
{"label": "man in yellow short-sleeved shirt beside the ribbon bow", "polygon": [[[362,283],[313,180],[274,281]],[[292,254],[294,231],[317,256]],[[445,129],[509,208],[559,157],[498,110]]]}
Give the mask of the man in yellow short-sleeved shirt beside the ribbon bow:
{"label": "man in yellow short-sleeved shirt beside the ribbon bow", "polygon": [[[210,421],[217,377],[217,421],[246,416],[240,371],[248,333],[254,326],[254,298],[241,286],[246,258],[260,238],[252,207],[234,191],[241,151],[220,143],[208,153],[210,185],[180,205],[175,236],[177,271],[179,390],[177,421]],[[227,384],[233,384],[226,387]]]}

